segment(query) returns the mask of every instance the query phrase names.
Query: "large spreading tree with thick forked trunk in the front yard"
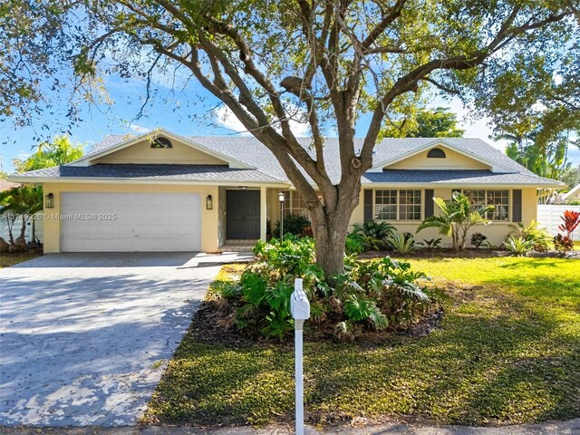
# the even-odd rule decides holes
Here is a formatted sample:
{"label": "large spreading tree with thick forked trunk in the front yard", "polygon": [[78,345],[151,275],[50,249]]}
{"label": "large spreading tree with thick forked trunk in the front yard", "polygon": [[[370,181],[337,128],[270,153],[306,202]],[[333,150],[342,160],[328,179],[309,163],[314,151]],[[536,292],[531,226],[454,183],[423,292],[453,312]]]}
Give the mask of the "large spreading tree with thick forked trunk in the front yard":
{"label": "large spreading tree with thick forked trunk in the front yard", "polygon": [[[562,47],[578,40],[574,11],[556,0],[9,0],[0,11],[0,80],[10,96],[0,114],[26,122],[47,98],[37,78],[58,89],[71,64],[75,91],[87,98],[103,74],[150,84],[180,67],[273,152],[304,196],[326,276],[343,270],[361,177],[387,116],[409,111],[428,89],[473,97],[517,62],[555,70]],[[290,128],[296,119],[310,125],[308,149]],[[327,171],[329,128],[340,179]]]}

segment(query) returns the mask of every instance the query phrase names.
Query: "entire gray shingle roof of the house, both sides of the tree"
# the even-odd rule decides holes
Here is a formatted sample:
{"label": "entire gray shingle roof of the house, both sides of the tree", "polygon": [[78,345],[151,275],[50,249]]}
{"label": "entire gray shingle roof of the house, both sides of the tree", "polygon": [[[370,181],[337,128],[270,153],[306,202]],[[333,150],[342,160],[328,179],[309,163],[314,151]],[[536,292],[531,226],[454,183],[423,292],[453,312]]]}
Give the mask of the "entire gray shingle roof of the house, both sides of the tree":
{"label": "entire gray shingle roof of the house, both sides of the tree", "polygon": [[[102,150],[110,149],[124,140],[131,138],[131,135],[110,135],[102,142],[94,145],[88,156],[97,154]],[[75,175],[74,177],[128,177],[128,178],[150,178],[150,179],[211,179],[215,181],[228,181],[236,179],[241,180],[243,177],[253,177],[255,181],[285,181],[288,178],[285,171],[280,167],[274,154],[267,150],[254,137],[247,136],[191,136],[187,138],[194,143],[215,150],[256,169],[244,169],[246,172],[237,172],[233,175],[229,170],[241,169],[200,169],[196,165],[94,165],[88,168],[64,167],[61,172],[40,173],[38,171],[27,173],[31,177],[72,177],[71,171],[76,170],[77,174],[95,174],[95,175]],[[375,165],[391,160],[400,160],[405,156],[412,155],[427,144],[432,143],[435,138],[407,138],[395,139],[387,138],[377,143],[374,149],[373,161]],[[478,184],[524,184],[524,185],[545,185],[558,186],[558,182],[551,179],[543,179],[536,176],[531,171],[519,165],[516,161],[509,159],[501,151],[491,147],[488,143],[480,139],[469,138],[442,138],[444,142],[456,147],[467,155],[473,156],[478,160],[488,161],[490,164],[507,169],[507,173],[493,173],[488,170],[393,170],[389,169],[381,172],[367,172],[362,182],[368,183],[401,183],[401,182],[439,182],[439,183],[478,183]],[[312,140],[309,138],[299,138],[298,141],[306,150],[310,150]],[[362,148],[362,139],[355,139],[355,148]],[[329,176],[333,182],[340,179],[340,152],[338,140],[336,138],[327,138],[324,142],[324,158]],[[205,166],[205,165],[204,165]],[[91,169],[98,168],[101,169]],[[107,168],[105,168],[107,167]],[[116,169],[113,169],[114,167]],[[181,170],[178,169],[182,167]],[[73,169],[75,168],[75,169]],[[132,169],[131,169],[132,168]],[[137,168],[140,168],[139,170]],[[206,167],[208,168],[208,167]],[[216,167],[213,167],[216,168]],[[71,171],[69,171],[71,169]],[[48,169],[46,169],[48,170]],[[91,172],[91,170],[98,171]],[[137,172],[135,172],[137,170]],[[206,171],[207,170],[207,171]],[[106,175],[112,173],[117,175]],[[141,171],[141,172],[139,172]],[[169,172],[170,173],[169,173]],[[124,175],[142,173],[143,175]],[[187,174],[186,174],[187,173]],[[49,175],[50,174],[50,175]],[[245,179],[249,181],[249,179]]]}

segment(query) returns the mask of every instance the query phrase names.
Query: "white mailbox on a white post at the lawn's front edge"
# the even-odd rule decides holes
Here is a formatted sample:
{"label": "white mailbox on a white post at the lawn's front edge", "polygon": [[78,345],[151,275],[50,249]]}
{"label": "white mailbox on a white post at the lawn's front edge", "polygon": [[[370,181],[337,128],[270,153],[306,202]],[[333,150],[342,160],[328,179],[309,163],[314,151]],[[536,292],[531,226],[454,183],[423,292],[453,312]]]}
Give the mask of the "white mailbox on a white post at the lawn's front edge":
{"label": "white mailbox on a white post at the lawn's front edge", "polygon": [[295,383],[296,383],[296,435],[304,435],[304,379],[302,370],[302,343],[304,320],[310,318],[310,302],[302,288],[302,278],[296,278],[290,297],[290,311],[295,330]]}

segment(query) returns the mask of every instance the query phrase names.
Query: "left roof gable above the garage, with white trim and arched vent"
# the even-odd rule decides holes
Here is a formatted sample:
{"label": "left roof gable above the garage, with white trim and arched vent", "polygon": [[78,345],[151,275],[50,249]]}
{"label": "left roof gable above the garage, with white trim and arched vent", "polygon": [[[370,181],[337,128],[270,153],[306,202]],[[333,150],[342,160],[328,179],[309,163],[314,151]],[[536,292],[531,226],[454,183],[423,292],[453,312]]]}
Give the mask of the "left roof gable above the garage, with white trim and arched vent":
{"label": "left roof gable above the garage, with white trim and arched vent", "polygon": [[[158,149],[151,147],[153,140],[167,138],[172,148]],[[99,144],[82,159],[75,160],[67,166],[92,166],[95,164],[198,164],[227,165],[234,169],[253,168],[231,156],[196,143],[189,138],[181,137],[169,131],[156,130],[136,137],[110,137],[105,140],[106,146]],[[112,143],[111,143],[112,142]]]}

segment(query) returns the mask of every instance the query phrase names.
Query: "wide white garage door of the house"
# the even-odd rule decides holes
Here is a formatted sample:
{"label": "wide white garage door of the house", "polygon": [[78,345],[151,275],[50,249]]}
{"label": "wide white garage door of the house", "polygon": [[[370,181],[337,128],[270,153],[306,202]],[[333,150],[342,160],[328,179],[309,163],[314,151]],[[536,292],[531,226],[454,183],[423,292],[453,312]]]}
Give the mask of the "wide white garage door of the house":
{"label": "wide white garage door of the house", "polygon": [[63,193],[63,252],[199,251],[196,194]]}

